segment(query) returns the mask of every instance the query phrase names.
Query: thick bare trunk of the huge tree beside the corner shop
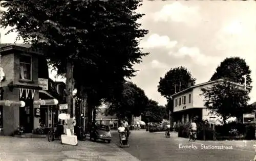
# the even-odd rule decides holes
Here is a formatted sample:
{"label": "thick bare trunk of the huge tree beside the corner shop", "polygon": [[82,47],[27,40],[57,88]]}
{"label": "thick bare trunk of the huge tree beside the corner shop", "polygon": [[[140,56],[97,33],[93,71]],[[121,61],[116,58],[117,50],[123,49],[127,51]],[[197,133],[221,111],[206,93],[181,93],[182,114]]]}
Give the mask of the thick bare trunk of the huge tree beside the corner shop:
{"label": "thick bare trunk of the huge tree beside the corner shop", "polygon": [[68,110],[67,113],[70,114],[70,117],[73,117],[73,90],[75,81],[73,78],[73,70],[74,64],[71,62],[67,62],[67,73],[66,73],[66,100],[68,103]]}

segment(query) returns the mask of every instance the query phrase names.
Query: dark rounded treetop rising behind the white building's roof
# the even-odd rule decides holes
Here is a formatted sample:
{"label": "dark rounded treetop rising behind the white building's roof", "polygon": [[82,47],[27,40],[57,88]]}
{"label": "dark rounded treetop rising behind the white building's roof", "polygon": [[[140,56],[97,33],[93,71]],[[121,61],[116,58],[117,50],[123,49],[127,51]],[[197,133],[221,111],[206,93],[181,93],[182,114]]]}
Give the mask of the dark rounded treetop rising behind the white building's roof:
{"label": "dark rounded treetop rising behind the white building's roof", "polygon": [[245,80],[243,76],[246,75],[246,84],[250,86],[252,83],[250,73],[251,70],[244,59],[239,57],[230,57],[221,62],[214,75],[211,76],[210,81],[224,78],[231,82],[244,84]]}

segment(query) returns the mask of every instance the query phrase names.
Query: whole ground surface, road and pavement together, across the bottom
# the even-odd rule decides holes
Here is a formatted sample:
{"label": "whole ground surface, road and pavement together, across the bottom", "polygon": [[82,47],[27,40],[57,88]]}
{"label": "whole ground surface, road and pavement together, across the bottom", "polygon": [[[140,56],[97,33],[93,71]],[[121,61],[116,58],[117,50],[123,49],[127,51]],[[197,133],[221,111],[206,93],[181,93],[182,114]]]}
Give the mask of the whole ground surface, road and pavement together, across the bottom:
{"label": "whole ground surface, road and pavement together, across the bottom", "polygon": [[[112,131],[112,143],[79,141],[78,146],[60,144],[60,141],[48,142],[45,138],[0,137],[0,161],[249,161],[254,156],[252,145],[255,141],[196,141],[175,137],[165,138],[162,133],[150,133],[145,130],[131,131],[130,147],[119,147],[118,133]],[[223,146],[229,149],[201,149]],[[188,149],[197,148],[197,149]],[[182,147],[183,146],[183,147]],[[232,149],[230,149],[232,147]]]}

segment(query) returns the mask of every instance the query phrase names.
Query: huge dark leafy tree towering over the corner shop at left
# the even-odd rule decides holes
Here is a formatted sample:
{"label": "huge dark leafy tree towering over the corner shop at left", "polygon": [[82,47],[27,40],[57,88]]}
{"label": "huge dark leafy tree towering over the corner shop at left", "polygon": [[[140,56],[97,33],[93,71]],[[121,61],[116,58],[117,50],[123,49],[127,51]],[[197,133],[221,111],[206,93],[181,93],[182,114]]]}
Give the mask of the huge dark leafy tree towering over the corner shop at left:
{"label": "huge dark leafy tree towering over the corner shop at left", "polygon": [[[1,13],[1,26],[12,26],[8,33],[16,31],[18,38],[42,50],[59,74],[66,73],[68,113],[75,82],[83,79],[82,74],[90,79],[79,82],[85,91],[105,83],[106,77],[106,87],[114,88],[125,76],[134,76],[133,64],[147,55],[138,47],[138,38],[147,33],[137,23],[142,16],[135,13],[140,1],[6,1],[1,6],[7,8]],[[76,65],[80,77],[75,80]],[[89,70],[92,75],[87,74]],[[114,79],[117,81],[111,84]],[[89,93],[95,94],[93,90]]]}

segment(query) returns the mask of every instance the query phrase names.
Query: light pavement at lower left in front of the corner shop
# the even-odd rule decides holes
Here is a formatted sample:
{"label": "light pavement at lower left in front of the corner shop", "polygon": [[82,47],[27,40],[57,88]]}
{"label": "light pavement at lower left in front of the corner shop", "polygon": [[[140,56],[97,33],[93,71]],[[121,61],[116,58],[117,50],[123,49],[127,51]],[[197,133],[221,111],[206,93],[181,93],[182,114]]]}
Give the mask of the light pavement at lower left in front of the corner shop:
{"label": "light pavement at lower left in front of the corner shop", "polygon": [[79,141],[78,146],[48,142],[45,138],[0,137],[0,161],[139,161],[115,144]]}

